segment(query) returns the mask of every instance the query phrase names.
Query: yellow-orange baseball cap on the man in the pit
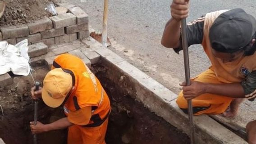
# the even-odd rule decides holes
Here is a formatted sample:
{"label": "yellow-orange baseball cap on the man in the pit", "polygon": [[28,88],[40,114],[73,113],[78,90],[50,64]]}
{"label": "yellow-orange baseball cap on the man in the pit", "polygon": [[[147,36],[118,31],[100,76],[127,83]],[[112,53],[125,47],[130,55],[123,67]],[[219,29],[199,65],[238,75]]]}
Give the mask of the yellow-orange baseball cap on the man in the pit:
{"label": "yellow-orange baseball cap on the man in the pit", "polygon": [[46,74],[42,88],[42,99],[51,108],[59,107],[72,89],[72,76],[62,68]]}

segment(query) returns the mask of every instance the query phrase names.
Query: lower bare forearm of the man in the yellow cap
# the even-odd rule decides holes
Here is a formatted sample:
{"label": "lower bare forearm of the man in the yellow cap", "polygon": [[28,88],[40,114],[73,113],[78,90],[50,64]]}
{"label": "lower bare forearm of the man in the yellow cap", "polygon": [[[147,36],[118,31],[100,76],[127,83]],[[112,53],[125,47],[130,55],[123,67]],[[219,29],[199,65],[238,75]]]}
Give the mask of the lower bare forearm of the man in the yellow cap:
{"label": "lower bare forearm of the man in the yellow cap", "polygon": [[64,129],[67,128],[69,126],[72,126],[73,123],[69,122],[68,118],[62,118],[59,119],[58,121],[54,121],[50,124],[46,124],[46,131],[50,131],[50,130],[59,130],[59,129]]}

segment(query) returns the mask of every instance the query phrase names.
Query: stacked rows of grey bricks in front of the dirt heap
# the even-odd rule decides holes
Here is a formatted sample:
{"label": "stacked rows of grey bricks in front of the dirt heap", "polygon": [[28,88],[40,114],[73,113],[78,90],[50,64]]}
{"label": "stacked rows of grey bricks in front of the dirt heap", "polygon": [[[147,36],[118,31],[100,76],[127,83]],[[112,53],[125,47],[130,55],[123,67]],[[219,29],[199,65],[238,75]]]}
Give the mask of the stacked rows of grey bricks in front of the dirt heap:
{"label": "stacked rows of grey bricks in front of the dirt heap", "polygon": [[89,36],[88,15],[74,5],[68,7],[69,12],[50,18],[43,18],[21,26],[1,27],[0,41],[16,44],[24,39],[29,45],[43,42],[46,45],[70,42]]}

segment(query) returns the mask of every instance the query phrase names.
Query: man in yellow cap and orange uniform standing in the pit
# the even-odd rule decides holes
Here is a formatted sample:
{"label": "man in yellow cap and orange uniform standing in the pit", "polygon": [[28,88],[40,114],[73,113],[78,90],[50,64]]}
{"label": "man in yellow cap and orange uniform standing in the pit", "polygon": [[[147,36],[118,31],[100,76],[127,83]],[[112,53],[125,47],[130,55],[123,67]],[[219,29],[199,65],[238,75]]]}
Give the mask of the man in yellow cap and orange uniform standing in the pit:
{"label": "man in yellow cap and orange uniform standing in the pit", "polygon": [[61,54],[46,74],[43,87],[31,90],[51,108],[64,104],[67,117],[50,124],[30,122],[33,134],[69,128],[68,144],[105,144],[110,100],[100,81],[85,63],[71,54]]}

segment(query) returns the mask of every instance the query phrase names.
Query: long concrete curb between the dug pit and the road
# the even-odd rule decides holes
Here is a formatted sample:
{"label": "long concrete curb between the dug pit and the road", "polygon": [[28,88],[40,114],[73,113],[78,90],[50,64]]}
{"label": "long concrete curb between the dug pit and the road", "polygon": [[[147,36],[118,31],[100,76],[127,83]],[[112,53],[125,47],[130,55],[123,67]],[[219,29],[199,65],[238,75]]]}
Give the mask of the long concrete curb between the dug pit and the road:
{"label": "long concrete curb between the dug pit and the road", "polygon": [[[83,40],[83,42],[90,45],[91,49],[101,55],[101,63],[104,66],[110,67],[110,71],[115,73],[115,76],[120,76],[113,78],[115,82],[128,89],[128,93],[135,91],[135,99],[141,101],[156,115],[163,117],[171,125],[189,135],[188,117],[178,108],[175,102],[177,94],[147,76],[110,49],[105,49],[96,40],[90,38],[90,40]],[[117,72],[119,74],[116,74]],[[127,85],[127,83],[134,83],[134,85]],[[238,135],[206,115],[195,117],[194,122],[197,137],[196,144],[247,144]]]}

